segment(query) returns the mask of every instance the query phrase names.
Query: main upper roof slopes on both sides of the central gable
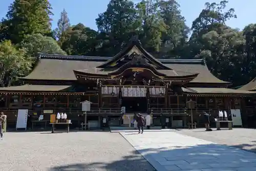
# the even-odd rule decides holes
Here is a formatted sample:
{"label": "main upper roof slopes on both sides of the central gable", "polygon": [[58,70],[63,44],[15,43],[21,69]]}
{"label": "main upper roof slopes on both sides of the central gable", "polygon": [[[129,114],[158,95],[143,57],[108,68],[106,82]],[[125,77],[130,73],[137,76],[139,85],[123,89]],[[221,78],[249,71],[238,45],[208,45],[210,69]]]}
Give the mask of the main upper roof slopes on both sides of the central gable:
{"label": "main upper roof slopes on both sides of the central gable", "polygon": [[[24,79],[35,80],[76,80],[74,70],[92,74],[106,74],[98,66],[102,65],[111,57],[94,56],[67,56],[54,54],[40,54],[36,67]],[[191,82],[199,83],[228,83],[216,78],[210,73],[203,59],[165,59],[160,58],[166,67],[173,70],[158,70],[169,76],[185,76],[191,74],[199,75]]]}

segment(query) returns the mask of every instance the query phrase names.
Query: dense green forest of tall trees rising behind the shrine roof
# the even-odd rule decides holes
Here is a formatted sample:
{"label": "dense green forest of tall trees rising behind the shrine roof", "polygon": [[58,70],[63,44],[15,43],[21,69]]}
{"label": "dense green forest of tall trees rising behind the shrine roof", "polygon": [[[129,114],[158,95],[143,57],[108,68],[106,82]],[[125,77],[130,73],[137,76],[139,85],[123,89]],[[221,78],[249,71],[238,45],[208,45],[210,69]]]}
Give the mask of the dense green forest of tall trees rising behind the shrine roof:
{"label": "dense green forest of tall trees rising behind the shrine roof", "polygon": [[55,14],[60,18],[52,28],[48,0],[15,0],[0,23],[0,87],[19,84],[17,78],[31,72],[38,53],[114,56],[132,37],[156,58],[204,58],[212,74],[241,86],[256,76],[256,24],[243,30],[227,26],[237,17],[227,4],[206,3],[187,26],[175,0],[111,0],[93,30],[71,25],[65,9]]}

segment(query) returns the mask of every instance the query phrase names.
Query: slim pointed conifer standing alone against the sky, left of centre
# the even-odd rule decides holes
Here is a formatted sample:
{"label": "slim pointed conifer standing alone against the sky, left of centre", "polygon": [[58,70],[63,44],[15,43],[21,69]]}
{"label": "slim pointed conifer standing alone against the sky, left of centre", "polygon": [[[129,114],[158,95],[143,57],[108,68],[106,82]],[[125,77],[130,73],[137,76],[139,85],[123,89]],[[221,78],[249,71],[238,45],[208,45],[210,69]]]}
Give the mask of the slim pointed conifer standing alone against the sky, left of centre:
{"label": "slim pointed conifer standing alone against the sky, left of centre", "polygon": [[56,37],[58,39],[59,45],[61,46],[62,42],[65,41],[63,34],[70,28],[70,22],[68,13],[65,9],[60,13],[60,19],[58,20],[58,27],[55,29]]}

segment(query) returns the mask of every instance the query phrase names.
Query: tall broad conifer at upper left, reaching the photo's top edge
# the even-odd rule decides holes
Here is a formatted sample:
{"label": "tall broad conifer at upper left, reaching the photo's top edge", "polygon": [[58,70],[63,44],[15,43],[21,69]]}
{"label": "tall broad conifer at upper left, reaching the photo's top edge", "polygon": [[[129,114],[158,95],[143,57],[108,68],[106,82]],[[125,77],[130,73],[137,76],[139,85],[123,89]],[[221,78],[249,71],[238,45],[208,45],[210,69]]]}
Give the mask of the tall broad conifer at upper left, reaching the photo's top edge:
{"label": "tall broad conifer at upper left, reaching the photo's top edge", "polygon": [[51,9],[48,0],[15,0],[3,22],[6,38],[18,44],[30,34],[50,35]]}

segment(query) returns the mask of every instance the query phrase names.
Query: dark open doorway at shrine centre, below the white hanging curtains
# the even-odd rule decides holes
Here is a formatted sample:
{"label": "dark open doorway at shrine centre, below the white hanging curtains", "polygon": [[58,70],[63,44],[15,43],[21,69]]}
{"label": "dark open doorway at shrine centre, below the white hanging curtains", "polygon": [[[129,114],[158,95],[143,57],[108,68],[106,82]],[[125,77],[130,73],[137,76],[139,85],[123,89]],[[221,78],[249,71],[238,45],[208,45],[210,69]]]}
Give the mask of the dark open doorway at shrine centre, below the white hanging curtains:
{"label": "dark open doorway at shrine centre, below the white hanging curtains", "polygon": [[146,97],[123,97],[122,106],[125,106],[126,113],[147,112]]}

